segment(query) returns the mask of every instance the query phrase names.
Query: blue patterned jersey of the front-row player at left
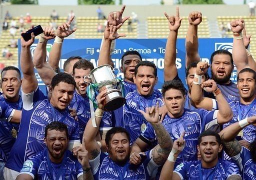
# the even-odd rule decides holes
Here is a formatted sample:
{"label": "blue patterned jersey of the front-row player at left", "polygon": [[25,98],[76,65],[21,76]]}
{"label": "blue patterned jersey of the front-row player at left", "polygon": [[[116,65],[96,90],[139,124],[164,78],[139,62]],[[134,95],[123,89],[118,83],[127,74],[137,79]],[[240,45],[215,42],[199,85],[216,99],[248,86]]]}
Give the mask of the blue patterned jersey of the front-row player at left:
{"label": "blue patterned jersey of the front-row player at left", "polygon": [[[39,153],[36,153],[31,158],[27,159],[19,174],[29,174],[33,177],[33,179],[44,180],[51,179],[50,171],[52,169],[53,178],[56,178],[56,174],[61,166],[61,163],[56,164],[51,161],[51,168],[48,167],[47,161],[48,158],[48,150],[44,149]],[[77,158],[73,157],[72,153],[69,150],[65,151],[66,158],[64,160],[64,165],[61,170],[61,179],[77,179],[80,175],[83,174],[82,166],[78,162]],[[62,161],[63,161],[62,160]]]}

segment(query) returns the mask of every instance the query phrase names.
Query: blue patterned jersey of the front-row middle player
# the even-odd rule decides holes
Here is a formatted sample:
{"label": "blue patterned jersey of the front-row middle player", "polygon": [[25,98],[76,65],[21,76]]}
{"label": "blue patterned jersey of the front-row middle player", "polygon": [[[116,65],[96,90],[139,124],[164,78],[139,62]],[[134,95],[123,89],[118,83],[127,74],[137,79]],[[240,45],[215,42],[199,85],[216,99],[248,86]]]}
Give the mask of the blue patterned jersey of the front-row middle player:
{"label": "blue patterned jersey of the front-row middle player", "polygon": [[136,168],[129,167],[129,160],[123,166],[118,165],[105,153],[100,153],[95,159],[89,160],[94,179],[149,179],[158,165],[151,156],[151,150],[145,152],[146,158]]}

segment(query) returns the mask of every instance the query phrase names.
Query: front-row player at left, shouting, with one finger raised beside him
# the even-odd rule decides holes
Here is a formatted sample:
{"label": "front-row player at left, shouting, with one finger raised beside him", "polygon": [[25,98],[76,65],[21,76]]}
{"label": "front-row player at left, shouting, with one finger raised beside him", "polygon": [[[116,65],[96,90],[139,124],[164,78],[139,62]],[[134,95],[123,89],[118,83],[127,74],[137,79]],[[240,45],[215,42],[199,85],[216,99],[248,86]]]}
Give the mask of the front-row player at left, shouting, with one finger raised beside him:
{"label": "front-row player at left, shouting, with one finger raised beside him", "polygon": [[77,149],[77,159],[67,150],[67,126],[53,121],[45,127],[44,142],[47,148],[27,159],[16,179],[79,179],[91,180],[93,175],[88,162],[85,143]]}

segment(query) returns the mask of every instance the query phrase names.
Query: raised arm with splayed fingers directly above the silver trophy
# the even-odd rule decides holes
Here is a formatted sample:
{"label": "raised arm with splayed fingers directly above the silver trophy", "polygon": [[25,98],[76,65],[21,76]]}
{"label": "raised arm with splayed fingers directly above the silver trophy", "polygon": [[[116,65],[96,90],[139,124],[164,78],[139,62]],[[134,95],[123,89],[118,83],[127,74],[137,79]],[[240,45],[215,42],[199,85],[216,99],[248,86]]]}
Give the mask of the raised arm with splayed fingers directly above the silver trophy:
{"label": "raised arm with splayed fingers directly above the silver trophy", "polygon": [[104,39],[101,49],[99,51],[98,65],[110,64],[110,59],[106,58],[110,56],[110,46],[112,40],[121,36],[126,36],[124,33],[117,33],[117,29],[127,20],[129,17],[123,17],[122,13],[125,9],[125,5],[122,6],[120,11],[110,12],[107,19],[107,24],[104,30]]}

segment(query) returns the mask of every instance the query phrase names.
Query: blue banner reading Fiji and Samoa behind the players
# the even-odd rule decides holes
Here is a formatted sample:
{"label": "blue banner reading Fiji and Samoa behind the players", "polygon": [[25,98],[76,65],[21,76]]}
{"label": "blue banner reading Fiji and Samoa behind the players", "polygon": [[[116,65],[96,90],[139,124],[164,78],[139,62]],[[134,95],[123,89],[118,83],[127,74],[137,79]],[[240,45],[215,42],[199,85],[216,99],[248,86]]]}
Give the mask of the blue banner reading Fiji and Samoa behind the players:
{"label": "blue banner reading Fiji and Samoa behind the players", "polygon": [[[18,42],[18,54],[20,55],[20,41]],[[70,56],[81,56],[90,60],[94,67],[97,65],[99,47],[101,39],[65,39],[62,44],[62,53],[59,61],[59,67],[62,70],[64,61]],[[166,39],[117,39],[115,50],[111,56],[114,66],[121,66],[121,56],[127,50],[136,50],[141,54],[142,60],[153,62],[157,67],[158,82],[156,88],[161,88],[163,83],[163,60],[165,53]],[[37,41],[31,45],[31,53],[33,54]],[[47,57],[52,47],[53,40],[47,43]],[[232,38],[201,38],[199,39],[199,54],[202,61],[210,61],[210,55],[218,49],[226,49],[231,52]],[[180,79],[185,83],[185,39],[177,39],[176,44],[176,66]],[[20,56],[18,56],[18,62]],[[18,63],[19,64],[19,63]],[[20,68],[20,65],[19,65]],[[45,86],[35,70],[39,87],[45,91]],[[117,74],[122,76],[122,73]],[[231,78],[236,82],[236,69],[232,72]]]}

